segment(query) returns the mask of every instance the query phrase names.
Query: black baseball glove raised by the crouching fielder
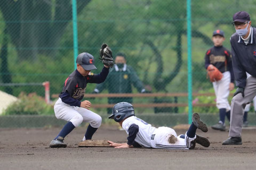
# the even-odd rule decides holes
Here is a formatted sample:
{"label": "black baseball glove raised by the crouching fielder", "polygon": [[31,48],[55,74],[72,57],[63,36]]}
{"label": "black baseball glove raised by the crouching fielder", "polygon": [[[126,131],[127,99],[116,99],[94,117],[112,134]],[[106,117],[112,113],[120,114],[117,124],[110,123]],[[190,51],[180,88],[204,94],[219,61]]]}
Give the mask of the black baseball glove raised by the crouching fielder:
{"label": "black baseball glove raised by the crouching fielder", "polygon": [[100,60],[102,60],[104,65],[109,67],[113,67],[115,64],[112,57],[112,51],[107,44],[102,44],[100,47]]}

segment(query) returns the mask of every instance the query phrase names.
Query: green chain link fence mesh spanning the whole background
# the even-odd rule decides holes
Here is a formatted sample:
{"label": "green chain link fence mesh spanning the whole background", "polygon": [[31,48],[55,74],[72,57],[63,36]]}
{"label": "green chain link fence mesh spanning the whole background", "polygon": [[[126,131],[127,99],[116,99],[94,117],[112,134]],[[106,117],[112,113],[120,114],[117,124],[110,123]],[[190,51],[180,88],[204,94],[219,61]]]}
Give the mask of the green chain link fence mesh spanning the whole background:
{"label": "green chain link fence mesh spanning the whole background", "polygon": [[[188,113],[186,1],[76,2],[78,53],[89,52],[94,56],[98,70],[92,72],[100,73],[103,67],[98,59],[102,43],[111,47],[114,56],[125,54],[127,64],[125,71],[115,71],[113,67],[115,79],[109,77],[101,87],[87,84],[85,94],[91,96],[85,99],[99,106],[92,110],[107,116],[111,112],[107,104],[127,100],[138,106],[137,114],[153,116],[150,123],[186,123],[187,118],[179,121],[177,117]],[[235,32],[231,25],[233,14],[249,12],[253,26],[255,4],[255,0],[191,2],[193,111],[209,114],[206,117],[209,124],[218,120],[214,90],[204,68],[206,50],[213,46],[212,32],[223,30],[226,38],[223,46],[230,50],[229,37]],[[0,48],[1,117],[27,114],[55,118],[54,102],[75,69],[72,1],[2,0]],[[93,96],[97,92],[134,96],[108,99],[109,96]],[[254,112],[253,108],[250,111]],[[157,122],[157,117],[163,115],[174,118],[165,118],[170,124]]]}

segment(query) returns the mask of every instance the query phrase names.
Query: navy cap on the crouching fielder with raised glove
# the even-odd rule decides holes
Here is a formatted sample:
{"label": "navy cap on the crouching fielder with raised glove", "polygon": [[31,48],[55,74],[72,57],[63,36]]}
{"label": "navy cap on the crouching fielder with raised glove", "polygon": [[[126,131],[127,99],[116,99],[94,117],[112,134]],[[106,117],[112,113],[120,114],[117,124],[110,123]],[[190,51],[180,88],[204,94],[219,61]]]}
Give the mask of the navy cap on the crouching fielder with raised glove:
{"label": "navy cap on the crouching fielder with raised glove", "polygon": [[89,53],[81,53],[76,58],[76,63],[80,64],[84,70],[97,69],[94,65],[94,57]]}

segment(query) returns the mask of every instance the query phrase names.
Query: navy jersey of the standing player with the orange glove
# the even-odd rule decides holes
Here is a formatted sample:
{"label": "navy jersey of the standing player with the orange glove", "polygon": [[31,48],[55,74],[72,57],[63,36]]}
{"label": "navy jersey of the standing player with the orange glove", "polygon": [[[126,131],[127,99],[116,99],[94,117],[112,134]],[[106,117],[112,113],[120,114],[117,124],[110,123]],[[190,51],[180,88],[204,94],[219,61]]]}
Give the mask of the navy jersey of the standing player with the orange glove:
{"label": "navy jersey of the standing player with the orange glove", "polygon": [[233,66],[231,61],[230,52],[227,48],[220,46],[220,47],[212,47],[209,50],[207,50],[205,54],[205,69],[212,64],[221,73],[224,73],[226,71],[230,72],[231,76],[231,82],[234,82],[234,72],[233,72]]}

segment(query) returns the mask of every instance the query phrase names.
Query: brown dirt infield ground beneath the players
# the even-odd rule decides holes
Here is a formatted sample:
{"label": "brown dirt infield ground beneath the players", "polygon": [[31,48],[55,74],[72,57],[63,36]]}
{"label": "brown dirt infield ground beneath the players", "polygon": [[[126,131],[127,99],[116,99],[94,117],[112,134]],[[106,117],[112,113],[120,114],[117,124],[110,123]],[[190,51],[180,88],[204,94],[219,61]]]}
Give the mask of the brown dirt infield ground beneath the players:
{"label": "brown dirt infield ground beneath the players", "polygon": [[[222,146],[228,132],[199,132],[209,138],[209,148],[167,150],[111,147],[78,147],[85,127],[76,128],[65,139],[67,148],[50,148],[60,128],[0,129],[0,169],[255,169],[256,130],[243,129],[241,146]],[[176,130],[183,134],[186,130]],[[118,126],[102,125],[93,139],[126,141]]]}

